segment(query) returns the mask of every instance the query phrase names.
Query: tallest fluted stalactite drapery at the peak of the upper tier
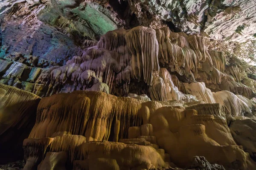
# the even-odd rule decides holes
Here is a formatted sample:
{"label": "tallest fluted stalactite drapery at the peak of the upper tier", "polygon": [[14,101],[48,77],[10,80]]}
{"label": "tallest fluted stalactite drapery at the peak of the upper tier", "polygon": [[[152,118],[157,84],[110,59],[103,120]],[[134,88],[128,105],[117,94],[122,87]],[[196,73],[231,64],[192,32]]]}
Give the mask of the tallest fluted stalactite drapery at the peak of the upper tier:
{"label": "tallest fluted stalactite drapery at the peak of the upper tier", "polygon": [[144,80],[151,85],[153,71],[159,71],[156,31],[138,26],[125,34],[125,40],[132,55],[131,77],[138,81]]}

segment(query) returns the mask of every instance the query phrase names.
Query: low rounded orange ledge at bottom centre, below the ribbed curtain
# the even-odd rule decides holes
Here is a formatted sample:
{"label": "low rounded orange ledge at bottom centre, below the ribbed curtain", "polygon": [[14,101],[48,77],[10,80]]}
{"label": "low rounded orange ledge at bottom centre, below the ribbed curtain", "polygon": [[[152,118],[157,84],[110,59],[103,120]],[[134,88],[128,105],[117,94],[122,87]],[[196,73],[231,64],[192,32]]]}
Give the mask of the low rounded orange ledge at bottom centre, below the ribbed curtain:
{"label": "low rounded orange ledge at bottom centre, below the ribbed curtain", "polygon": [[86,161],[76,161],[79,169],[118,170],[125,168],[154,169],[165,167],[161,155],[150,146],[116,142],[88,142],[82,147]]}

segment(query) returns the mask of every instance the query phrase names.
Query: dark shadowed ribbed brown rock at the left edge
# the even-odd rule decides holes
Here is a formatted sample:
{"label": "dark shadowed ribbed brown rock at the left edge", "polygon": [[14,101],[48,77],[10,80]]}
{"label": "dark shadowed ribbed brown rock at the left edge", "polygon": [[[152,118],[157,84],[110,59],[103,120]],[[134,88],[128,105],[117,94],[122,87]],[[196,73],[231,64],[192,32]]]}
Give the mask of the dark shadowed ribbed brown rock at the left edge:
{"label": "dark shadowed ribbed brown rock at the left edge", "polygon": [[35,124],[39,101],[35,94],[0,84],[0,164],[23,158],[22,142]]}

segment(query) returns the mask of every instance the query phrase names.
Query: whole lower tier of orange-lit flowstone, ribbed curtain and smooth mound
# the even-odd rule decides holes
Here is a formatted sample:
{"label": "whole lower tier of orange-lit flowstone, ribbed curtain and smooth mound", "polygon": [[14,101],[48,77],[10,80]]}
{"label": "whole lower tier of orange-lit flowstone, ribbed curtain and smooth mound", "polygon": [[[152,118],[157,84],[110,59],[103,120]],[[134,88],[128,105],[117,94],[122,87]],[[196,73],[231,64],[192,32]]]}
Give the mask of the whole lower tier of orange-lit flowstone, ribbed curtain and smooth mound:
{"label": "whole lower tier of orange-lit flowstone, ribbed curtain and smooth mound", "polygon": [[[73,105],[70,100],[77,102]],[[184,103],[163,103],[95,91],[43,98],[35,126],[23,143],[25,167],[44,164],[49,159],[43,161],[46,150],[67,153],[66,166],[78,170],[152,169],[173,164],[184,168],[197,155],[225,168],[253,170],[256,166],[249,153],[236,145],[226,120],[214,118],[221,114],[220,105],[216,113],[199,115],[184,108]],[[204,108],[201,105],[198,108]]]}

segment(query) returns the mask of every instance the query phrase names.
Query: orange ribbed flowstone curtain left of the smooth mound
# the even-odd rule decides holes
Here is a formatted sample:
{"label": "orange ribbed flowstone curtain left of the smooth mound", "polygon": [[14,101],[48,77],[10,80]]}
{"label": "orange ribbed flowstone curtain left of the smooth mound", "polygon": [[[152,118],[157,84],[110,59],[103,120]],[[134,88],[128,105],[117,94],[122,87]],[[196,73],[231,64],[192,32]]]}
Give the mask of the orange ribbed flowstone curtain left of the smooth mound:
{"label": "orange ribbed flowstone curtain left of the smooth mound", "polygon": [[[70,101],[78,102],[73,105]],[[116,96],[93,91],[46,97],[39,103],[36,124],[29,138],[51,137],[55,132],[66,131],[83,135],[87,141],[108,140],[113,133],[113,140],[117,141],[127,136],[128,127],[140,124],[137,111],[141,102],[132,98],[117,100]],[[55,122],[59,122],[58,125]],[[115,125],[113,132],[112,124]]]}

